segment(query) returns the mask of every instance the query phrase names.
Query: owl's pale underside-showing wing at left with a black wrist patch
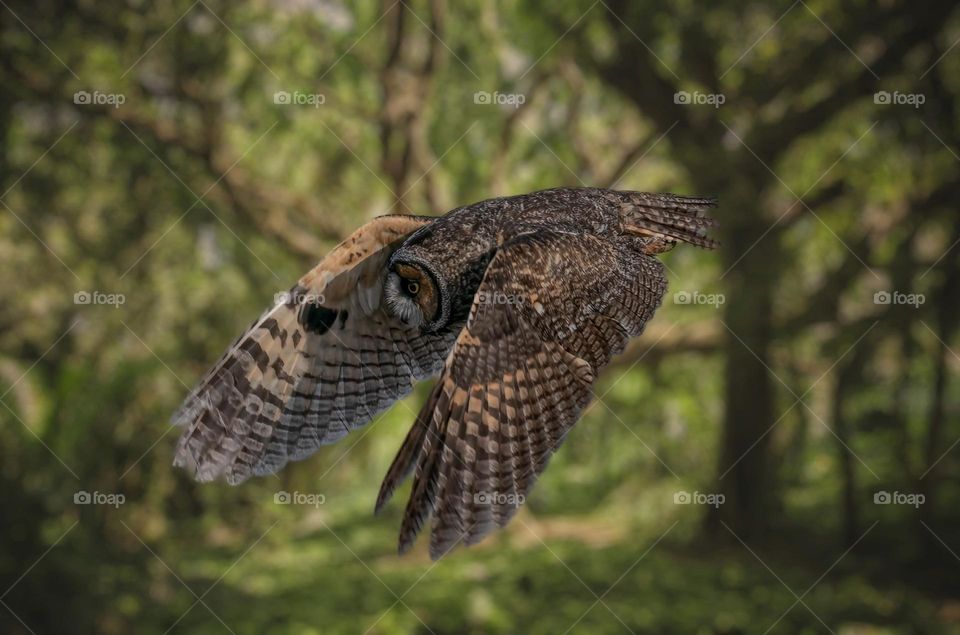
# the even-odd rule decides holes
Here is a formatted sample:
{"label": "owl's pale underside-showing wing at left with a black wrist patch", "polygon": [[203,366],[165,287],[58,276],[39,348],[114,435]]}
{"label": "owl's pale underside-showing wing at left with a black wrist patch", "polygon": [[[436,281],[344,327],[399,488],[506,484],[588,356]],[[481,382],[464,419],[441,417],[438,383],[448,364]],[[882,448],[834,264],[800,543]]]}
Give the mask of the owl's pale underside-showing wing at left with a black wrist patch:
{"label": "owl's pale underside-showing wing at left with a black wrist patch", "polygon": [[390,254],[431,221],[372,220],[254,322],[174,415],[174,465],[232,484],[275,472],[438,372],[456,334],[420,335],[380,303]]}

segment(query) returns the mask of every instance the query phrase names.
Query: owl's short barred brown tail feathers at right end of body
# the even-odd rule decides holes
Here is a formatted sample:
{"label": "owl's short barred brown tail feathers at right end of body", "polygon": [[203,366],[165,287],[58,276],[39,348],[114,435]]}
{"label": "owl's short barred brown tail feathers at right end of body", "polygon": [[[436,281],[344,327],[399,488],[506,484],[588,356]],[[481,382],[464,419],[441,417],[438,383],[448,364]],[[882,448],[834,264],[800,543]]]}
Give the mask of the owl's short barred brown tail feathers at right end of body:
{"label": "owl's short barred brown tail feathers at right end of body", "polygon": [[717,221],[704,213],[717,206],[715,198],[694,198],[676,194],[617,192],[620,199],[620,226],[623,231],[651,236],[667,242],[678,241],[713,249],[720,243],[707,236]]}

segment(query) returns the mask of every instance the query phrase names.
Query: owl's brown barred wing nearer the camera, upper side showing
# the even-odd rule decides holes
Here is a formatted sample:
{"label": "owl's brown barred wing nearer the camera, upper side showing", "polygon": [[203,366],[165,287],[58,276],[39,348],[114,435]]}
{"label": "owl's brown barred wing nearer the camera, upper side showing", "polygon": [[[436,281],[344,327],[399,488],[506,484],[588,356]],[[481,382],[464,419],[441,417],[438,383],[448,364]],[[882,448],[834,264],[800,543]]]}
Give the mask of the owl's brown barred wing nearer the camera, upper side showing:
{"label": "owl's brown barred wing nearer the camera, upper side showing", "polygon": [[497,251],[381,487],[377,509],[415,467],[401,552],[431,515],[436,559],[506,525],[523,503],[596,374],[666,290],[660,262],[627,240],[538,231]]}

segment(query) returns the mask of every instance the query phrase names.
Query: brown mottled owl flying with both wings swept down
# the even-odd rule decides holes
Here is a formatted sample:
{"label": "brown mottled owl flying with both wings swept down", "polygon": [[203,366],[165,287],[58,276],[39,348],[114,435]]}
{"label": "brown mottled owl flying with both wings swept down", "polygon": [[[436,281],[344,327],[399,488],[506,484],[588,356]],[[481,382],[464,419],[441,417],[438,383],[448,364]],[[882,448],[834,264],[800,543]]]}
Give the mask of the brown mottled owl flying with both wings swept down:
{"label": "brown mottled owl flying with both wings swept down", "polygon": [[713,248],[710,198],[558,188],[381,216],[229,348],[173,421],[174,464],[238,484],[369,422],[439,374],[376,502],[411,473],[400,552],[503,527],[666,291],[657,254]]}

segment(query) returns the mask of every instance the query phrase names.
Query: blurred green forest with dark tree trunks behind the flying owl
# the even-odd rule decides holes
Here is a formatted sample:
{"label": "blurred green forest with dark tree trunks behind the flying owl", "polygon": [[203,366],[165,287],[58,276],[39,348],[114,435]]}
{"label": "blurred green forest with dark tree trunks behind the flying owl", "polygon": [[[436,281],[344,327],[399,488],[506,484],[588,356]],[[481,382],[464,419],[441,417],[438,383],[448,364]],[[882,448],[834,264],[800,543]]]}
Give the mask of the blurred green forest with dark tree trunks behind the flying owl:
{"label": "blurred green forest with dark tree trunks behind the flying owl", "polygon": [[[960,632],[955,3],[0,5],[0,631]],[[724,247],[506,531],[372,516],[427,386],[279,478],[171,467],[346,232],[581,184],[718,196]]]}

